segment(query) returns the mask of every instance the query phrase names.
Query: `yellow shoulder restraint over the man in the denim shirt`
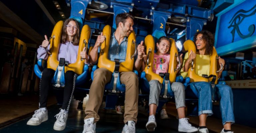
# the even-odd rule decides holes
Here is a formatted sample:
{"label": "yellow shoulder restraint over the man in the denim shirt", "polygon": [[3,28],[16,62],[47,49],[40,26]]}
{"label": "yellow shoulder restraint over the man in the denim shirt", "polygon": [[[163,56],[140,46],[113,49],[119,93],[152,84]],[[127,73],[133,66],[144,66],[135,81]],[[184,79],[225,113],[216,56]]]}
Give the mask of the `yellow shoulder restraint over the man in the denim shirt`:
{"label": "yellow shoulder restraint over the man in the denim shirt", "polygon": [[[103,35],[105,36],[105,41],[100,46],[100,56],[98,60],[98,67],[99,68],[106,68],[111,72],[114,72],[115,69],[115,62],[108,59],[108,50],[109,50],[109,41],[111,36],[111,27],[106,25],[103,28]],[[133,70],[133,62],[134,62],[134,55],[136,54],[136,39],[135,33],[132,33],[128,37],[127,43],[127,51],[126,51],[126,58],[124,62],[120,63],[119,72],[128,72]],[[134,53],[134,55],[132,55]]]}

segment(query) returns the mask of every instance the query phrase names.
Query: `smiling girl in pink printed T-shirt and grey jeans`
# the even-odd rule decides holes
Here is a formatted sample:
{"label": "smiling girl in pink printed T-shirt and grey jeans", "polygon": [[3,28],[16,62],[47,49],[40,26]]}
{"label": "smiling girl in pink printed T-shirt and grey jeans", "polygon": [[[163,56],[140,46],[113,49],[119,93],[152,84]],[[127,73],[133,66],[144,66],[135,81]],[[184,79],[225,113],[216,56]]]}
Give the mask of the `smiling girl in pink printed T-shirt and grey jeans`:
{"label": "smiling girl in pink printed T-shirt and grey jeans", "polygon": [[[153,61],[154,73],[159,74],[168,72],[170,54],[168,54],[167,52],[170,50],[170,44],[171,40],[166,36],[162,36],[158,39],[156,43],[157,52],[154,53]],[[159,83],[158,80],[151,80],[149,81],[149,85],[149,118],[146,124],[146,128],[148,131],[154,131],[156,127],[155,114],[158,106],[159,95],[162,89],[162,84]],[[196,132],[198,129],[196,127],[191,126],[191,124],[188,123],[188,118],[185,118],[185,89],[183,84],[173,82],[171,85],[171,89],[174,92],[176,108],[179,116],[178,131],[188,133]]]}

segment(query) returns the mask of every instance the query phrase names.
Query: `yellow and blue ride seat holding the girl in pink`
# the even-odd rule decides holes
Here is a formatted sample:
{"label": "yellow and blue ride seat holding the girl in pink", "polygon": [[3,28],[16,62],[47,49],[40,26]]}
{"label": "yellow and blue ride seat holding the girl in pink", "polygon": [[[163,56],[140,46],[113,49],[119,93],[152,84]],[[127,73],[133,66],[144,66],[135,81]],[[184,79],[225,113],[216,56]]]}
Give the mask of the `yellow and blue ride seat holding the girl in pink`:
{"label": "yellow and blue ride seat holding the girl in pink", "polygon": [[[146,44],[146,51],[147,51],[147,56],[148,60],[146,61],[146,67],[145,70],[141,73],[140,76],[140,88],[143,94],[149,94],[149,81],[151,80],[158,80],[160,83],[163,84],[160,97],[162,98],[173,98],[174,97],[174,92],[171,90],[171,83],[172,82],[189,82],[187,80],[184,80],[183,77],[178,76],[176,77],[176,74],[178,72],[178,69],[176,69],[177,62],[176,62],[176,57],[178,56],[178,51],[177,47],[175,44],[175,41],[170,38],[172,44],[170,48],[170,63],[169,63],[169,69],[168,73],[161,73],[161,74],[156,74],[153,72],[153,58],[154,58],[154,39],[152,35],[147,35],[145,38],[145,44]],[[181,65],[181,64],[179,64]],[[187,83],[186,83],[187,84]]]}

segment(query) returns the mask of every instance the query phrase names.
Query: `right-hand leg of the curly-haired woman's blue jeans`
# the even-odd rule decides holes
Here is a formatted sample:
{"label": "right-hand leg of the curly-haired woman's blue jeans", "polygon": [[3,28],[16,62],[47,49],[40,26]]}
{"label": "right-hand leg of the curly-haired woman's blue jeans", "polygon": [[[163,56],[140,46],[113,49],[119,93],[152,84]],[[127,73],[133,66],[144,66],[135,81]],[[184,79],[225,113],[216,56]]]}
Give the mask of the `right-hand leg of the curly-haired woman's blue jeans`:
{"label": "right-hand leg of the curly-haired woman's blue jeans", "polygon": [[235,117],[233,113],[233,93],[231,87],[222,84],[217,84],[215,87],[220,99],[222,124],[224,125],[226,122],[231,122],[231,124],[235,123]]}

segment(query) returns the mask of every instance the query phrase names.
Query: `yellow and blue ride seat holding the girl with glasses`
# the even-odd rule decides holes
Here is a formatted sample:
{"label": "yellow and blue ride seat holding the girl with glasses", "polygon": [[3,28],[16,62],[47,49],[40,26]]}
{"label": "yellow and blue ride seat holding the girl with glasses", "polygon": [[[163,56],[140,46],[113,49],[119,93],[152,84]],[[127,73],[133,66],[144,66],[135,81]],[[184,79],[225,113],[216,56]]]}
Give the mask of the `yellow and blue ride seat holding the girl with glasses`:
{"label": "yellow and blue ride seat holding the girl with glasses", "polygon": [[[60,44],[60,36],[63,27],[63,21],[59,21],[52,32],[52,37],[50,40],[50,50],[47,51],[48,59],[46,60],[39,59],[37,64],[34,66],[35,74],[41,79],[42,78],[42,71],[44,68],[50,68],[55,71],[54,77],[51,80],[51,83],[54,87],[64,87],[65,86],[65,72],[66,71],[73,71],[76,73],[76,85],[81,85],[87,79],[87,75],[89,72],[89,67],[87,64],[84,64],[83,59],[81,56],[77,56],[77,60],[75,63],[68,64],[65,62],[64,58],[58,60],[58,50]],[[89,49],[88,40],[90,37],[90,28],[88,25],[84,25],[80,35],[79,41],[79,48],[78,48],[78,55],[86,46],[86,49]]]}

